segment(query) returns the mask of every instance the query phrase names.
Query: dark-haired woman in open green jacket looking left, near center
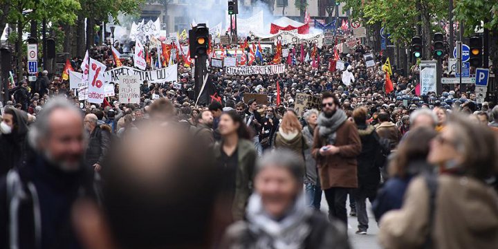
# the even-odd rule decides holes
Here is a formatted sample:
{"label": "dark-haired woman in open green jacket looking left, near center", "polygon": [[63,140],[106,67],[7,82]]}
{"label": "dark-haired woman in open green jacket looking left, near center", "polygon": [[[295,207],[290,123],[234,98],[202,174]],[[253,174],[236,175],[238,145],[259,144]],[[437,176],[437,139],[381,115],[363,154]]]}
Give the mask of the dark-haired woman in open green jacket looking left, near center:
{"label": "dark-haired woman in open green jacket looking left, near center", "polygon": [[243,219],[250,196],[256,151],[252,134],[236,111],[221,114],[219,132],[221,141],[214,145],[214,156],[223,169],[222,187],[232,200],[234,220]]}

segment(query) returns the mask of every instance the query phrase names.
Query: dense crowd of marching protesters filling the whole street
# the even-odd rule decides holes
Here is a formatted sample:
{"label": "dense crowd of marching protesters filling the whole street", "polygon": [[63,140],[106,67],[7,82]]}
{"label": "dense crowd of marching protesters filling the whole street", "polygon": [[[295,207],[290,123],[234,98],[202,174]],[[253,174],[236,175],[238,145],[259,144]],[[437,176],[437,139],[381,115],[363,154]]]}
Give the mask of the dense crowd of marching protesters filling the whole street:
{"label": "dense crowd of marching protesters filling the whole street", "polygon": [[[496,248],[498,106],[470,87],[416,96],[397,72],[386,94],[369,51],[340,55],[344,71],[325,47],[313,66],[284,58],[284,74],[211,68],[221,101],[201,107],[181,64],[181,89],[144,81],[140,104],[81,104],[46,71],[19,80],[1,111],[0,245],[351,248],[349,199],[356,234],[371,202],[384,248]],[[90,56],[113,67],[109,47]],[[321,109],[297,113],[297,93]]]}

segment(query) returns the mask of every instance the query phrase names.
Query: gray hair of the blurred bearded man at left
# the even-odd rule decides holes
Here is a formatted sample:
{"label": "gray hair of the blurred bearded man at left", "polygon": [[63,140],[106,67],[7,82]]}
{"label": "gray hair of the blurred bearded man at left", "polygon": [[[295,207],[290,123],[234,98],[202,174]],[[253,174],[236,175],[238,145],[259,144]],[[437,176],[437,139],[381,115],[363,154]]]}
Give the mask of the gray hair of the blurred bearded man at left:
{"label": "gray hair of the blurred bearded man at left", "polygon": [[50,135],[50,114],[57,109],[71,110],[80,114],[80,110],[65,98],[56,97],[48,101],[44,105],[44,108],[39,111],[37,121],[30,126],[30,130],[28,131],[28,142],[34,149],[39,149],[39,141]]}

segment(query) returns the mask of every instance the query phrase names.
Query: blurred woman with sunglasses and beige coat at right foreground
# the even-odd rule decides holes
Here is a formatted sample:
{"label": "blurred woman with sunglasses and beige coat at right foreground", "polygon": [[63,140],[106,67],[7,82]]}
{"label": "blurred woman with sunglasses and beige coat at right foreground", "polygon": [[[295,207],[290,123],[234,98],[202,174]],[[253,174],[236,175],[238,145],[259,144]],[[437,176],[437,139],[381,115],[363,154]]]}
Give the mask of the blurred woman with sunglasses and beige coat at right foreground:
{"label": "blurred woman with sunglasses and beige coat at right foreground", "polygon": [[380,220],[382,246],[497,248],[498,194],[486,183],[498,169],[497,151],[492,131],[448,116],[427,156],[432,165],[441,165],[441,175],[412,180],[403,208]]}

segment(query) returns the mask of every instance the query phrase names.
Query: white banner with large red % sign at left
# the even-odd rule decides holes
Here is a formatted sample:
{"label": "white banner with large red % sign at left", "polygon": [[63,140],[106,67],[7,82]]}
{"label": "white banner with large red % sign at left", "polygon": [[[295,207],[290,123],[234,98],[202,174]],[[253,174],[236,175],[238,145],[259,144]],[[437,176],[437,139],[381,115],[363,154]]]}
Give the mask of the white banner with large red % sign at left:
{"label": "white banner with large red % sign at left", "polygon": [[88,101],[102,104],[104,101],[104,71],[107,67],[95,59],[90,58]]}

